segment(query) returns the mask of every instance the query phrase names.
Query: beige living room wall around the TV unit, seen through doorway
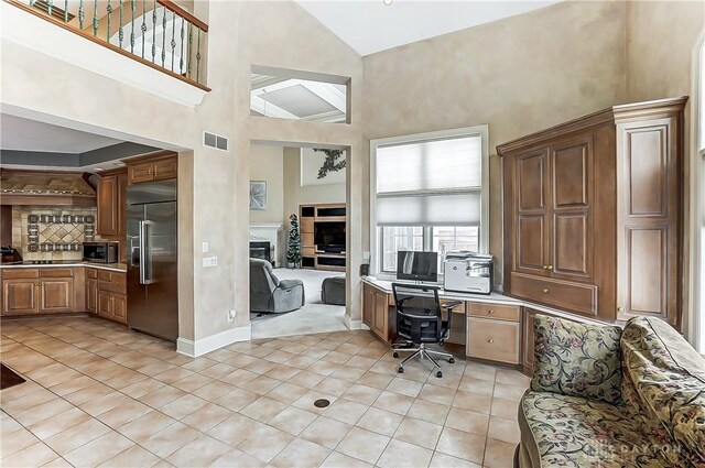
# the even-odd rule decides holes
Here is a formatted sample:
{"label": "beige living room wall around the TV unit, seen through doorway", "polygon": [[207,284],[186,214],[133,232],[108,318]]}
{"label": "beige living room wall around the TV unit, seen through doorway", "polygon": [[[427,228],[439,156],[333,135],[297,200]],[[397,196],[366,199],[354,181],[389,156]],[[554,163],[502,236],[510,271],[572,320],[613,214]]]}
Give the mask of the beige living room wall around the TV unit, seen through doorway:
{"label": "beige living room wall around the TV unit, seen through doorway", "polygon": [[301,186],[301,150],[284,148],[284,227],[303,204],[345,203],[345,184]]}

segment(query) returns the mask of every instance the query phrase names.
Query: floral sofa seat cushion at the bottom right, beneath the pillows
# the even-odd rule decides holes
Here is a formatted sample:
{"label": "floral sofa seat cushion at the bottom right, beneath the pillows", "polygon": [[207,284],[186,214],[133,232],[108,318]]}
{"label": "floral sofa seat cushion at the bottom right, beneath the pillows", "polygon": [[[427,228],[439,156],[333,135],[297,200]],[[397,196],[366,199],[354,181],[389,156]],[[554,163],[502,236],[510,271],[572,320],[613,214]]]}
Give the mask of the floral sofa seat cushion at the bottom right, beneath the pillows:
{"label": "floral sofa seat cushion at the bottom right, beneath the pillows", "polygon": [[519,426],[533,467],[699,466],[668,444],[663,428],[644,433],[623,405],[528,390]]}

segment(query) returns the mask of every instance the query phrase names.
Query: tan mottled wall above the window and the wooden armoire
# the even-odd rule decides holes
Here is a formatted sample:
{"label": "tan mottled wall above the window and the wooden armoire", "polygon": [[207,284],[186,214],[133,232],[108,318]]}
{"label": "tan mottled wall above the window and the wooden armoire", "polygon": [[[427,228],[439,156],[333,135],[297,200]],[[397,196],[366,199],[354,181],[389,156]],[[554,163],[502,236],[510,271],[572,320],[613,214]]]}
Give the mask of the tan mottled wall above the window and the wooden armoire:
{"label": "tan mottled wall above the window and the wooden armoire", "polygon": [[620,2],[562,2],[366,56],[365,141],[489,124],[490,251],[501,262],[495,146],[622,100],[625,14]]}

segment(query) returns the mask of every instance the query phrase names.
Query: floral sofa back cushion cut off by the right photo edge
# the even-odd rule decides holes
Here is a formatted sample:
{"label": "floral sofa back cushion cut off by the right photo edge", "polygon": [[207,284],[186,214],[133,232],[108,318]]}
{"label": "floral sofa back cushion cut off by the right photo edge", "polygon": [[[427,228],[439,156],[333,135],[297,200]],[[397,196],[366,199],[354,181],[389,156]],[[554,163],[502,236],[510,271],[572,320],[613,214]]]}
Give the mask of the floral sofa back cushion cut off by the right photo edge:
{"label": "floral sofa back cushion cut off by the right photo edge", "polygon": [[658,318],[631,318],[621,347],[622,394],[632,417],[663,427],[705,466],[705,359]]}

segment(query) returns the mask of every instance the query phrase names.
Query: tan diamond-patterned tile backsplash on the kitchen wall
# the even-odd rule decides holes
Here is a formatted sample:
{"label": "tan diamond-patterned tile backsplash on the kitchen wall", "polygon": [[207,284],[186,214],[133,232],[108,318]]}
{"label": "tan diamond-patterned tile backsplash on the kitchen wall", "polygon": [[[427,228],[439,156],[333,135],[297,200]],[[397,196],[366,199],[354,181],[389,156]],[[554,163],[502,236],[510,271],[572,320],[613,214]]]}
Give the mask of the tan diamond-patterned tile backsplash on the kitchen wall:
{"label": "tan diamond-patterned tile backsplash on the kitchen wall", "polygon": [[12,246],[24,260],[80,260],[80,244],[99,240],[95,207],[12,207]]}

